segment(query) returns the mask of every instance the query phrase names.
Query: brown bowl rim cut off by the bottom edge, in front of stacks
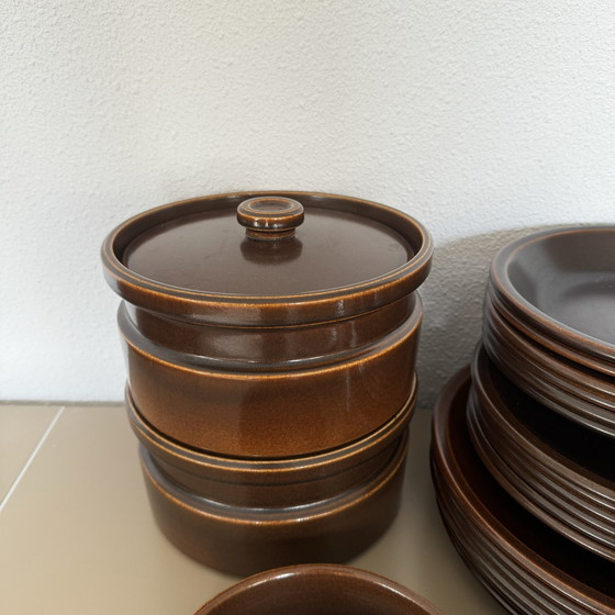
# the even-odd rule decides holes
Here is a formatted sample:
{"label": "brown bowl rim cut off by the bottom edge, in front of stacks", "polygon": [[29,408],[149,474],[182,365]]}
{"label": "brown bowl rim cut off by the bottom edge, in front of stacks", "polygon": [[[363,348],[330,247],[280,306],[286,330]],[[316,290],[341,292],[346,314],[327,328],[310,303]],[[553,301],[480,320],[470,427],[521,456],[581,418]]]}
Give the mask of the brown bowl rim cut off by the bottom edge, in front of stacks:
{"label": "brown bowl rim cut off by the bottom edge, in front of stacks", "polygon": [[305,564],[269,570],[222,592],[195,615],[441,615],[424,597],[372,572]]}

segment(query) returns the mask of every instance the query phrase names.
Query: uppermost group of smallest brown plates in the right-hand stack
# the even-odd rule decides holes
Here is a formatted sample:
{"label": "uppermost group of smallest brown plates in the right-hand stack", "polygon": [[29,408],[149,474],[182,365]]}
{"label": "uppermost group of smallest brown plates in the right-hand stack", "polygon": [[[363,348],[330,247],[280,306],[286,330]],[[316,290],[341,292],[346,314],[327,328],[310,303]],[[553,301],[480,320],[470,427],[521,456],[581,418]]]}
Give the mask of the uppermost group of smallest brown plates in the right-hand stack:
{"label": "uppermost group of smallest brown plates in the right-hand stack", "polygon": [[484,345],[527,394],[615,437],[615,227],[548,231],[493,260]]}

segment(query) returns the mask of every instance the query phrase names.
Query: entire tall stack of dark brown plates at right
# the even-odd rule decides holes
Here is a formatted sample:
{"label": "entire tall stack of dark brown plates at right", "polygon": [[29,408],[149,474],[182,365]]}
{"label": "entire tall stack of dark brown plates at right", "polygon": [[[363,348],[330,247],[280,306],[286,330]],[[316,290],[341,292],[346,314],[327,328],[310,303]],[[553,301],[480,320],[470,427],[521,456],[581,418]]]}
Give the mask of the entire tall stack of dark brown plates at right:
{"label": "entire tall stack of dark brown plates at right", "polygon": [[615,613],[615,227],[493,260],[482,344],[436,409],[443,518],[514,613]]}

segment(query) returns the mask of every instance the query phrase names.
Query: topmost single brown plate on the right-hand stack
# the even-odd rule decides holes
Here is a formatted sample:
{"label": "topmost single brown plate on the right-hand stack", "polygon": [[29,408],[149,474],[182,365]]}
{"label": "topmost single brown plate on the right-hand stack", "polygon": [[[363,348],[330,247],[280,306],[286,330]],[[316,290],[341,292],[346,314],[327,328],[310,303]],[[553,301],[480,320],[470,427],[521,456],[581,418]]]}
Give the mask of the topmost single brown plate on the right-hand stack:
{"label": "topmost single brown plate on the right-hand stack", "polygon": [[493,259],[493,291],[539,335],[615,368],[614,239],[615,226],[523,237]]}

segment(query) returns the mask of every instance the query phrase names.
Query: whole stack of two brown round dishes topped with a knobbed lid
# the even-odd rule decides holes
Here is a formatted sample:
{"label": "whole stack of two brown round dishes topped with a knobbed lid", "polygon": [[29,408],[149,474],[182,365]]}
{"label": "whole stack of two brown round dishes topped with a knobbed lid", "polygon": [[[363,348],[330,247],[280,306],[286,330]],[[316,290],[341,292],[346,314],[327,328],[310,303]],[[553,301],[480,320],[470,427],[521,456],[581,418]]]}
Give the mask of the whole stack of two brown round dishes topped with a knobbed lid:
{"label": "whole stack of two brown round dishes topped with a knobbed lid", "polygon": [[384,530],[432,251],[402,212],[310,192],[171,203],[109,235],[128,417],[181,550],[243,575],[343,561]]}

